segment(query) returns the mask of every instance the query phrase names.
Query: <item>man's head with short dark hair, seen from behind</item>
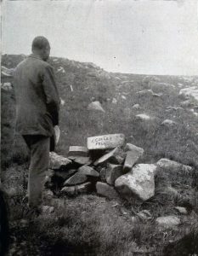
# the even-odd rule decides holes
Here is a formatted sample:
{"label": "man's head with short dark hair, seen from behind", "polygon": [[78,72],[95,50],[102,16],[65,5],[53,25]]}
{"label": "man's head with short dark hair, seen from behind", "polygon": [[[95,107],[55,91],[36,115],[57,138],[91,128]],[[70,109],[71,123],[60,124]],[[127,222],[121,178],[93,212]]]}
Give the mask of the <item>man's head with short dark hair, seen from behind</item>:
{"label": "man's head with short dark hair, seen from behind", "polygon": [[32,53],[39,55],[43,61],[48,61],[50,54],[50,44],[48,39],[44,37],[34,38],[31,44]]}

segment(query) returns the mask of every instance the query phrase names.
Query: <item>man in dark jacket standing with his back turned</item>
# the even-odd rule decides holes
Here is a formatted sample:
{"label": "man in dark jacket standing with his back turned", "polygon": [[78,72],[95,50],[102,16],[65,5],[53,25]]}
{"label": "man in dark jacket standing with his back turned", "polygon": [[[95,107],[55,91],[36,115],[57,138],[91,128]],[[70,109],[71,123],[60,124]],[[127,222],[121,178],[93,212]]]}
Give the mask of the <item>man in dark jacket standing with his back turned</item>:
{"label": "man in dark jacket standing with his back turned", "polygon": [[16,131],[24,137],[31,152],[28,205],[40,213],[50,137],[54,135],[54,125],[59,125],[59,92],[53,67],[47,62],[48,39],[34,38],[31,50],[32,54],[20,62],[14,73]]}

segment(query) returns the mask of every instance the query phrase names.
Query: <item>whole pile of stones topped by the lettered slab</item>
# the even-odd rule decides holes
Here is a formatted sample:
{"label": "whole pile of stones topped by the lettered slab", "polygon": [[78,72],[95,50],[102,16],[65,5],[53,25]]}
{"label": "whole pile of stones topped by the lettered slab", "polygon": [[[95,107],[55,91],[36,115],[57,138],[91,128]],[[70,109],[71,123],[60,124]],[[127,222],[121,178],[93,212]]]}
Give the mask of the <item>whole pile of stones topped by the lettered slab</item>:
{"label": "whole pile of stones topped by the lettered slab", "polygon": [[190,166],[161,159],[143,164],[144,149],[125,143],[123,134],[88,137],[88,147],[71,146],[67,157],[50,154],[46,185],[64,195],[96,191],[109,199],[146,201],[155,195],[157,170],[184,170]]}

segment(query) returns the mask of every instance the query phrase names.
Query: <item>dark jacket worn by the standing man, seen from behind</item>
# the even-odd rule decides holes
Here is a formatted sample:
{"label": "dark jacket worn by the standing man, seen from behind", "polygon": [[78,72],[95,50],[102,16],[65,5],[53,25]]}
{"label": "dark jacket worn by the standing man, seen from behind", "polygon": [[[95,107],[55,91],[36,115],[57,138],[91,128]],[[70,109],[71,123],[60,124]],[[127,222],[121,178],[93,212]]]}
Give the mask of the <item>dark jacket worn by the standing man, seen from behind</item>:
{"label": "dark jacket worn by the standing man, seen from behind", "polygon": [[37,55],[15,68],[16,131],[51,137],[59,124],[59,92],[54,70]]}

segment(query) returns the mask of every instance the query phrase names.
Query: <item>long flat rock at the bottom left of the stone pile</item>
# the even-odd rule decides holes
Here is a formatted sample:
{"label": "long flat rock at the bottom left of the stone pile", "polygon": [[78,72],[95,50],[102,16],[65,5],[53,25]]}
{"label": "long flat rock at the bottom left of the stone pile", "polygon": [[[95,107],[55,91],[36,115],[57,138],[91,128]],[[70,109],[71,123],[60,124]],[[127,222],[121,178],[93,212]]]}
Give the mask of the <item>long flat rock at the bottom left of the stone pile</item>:
{"label": "long flat rock at the bottom left of the stone pile", "polygon": [[61,189],[61,192],[65,195],[78,195],[78,194],[86,194],[92,189],[92,183],[83,183],[76,186],[64,187]]}

